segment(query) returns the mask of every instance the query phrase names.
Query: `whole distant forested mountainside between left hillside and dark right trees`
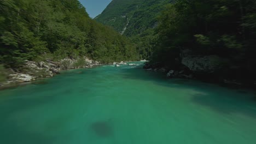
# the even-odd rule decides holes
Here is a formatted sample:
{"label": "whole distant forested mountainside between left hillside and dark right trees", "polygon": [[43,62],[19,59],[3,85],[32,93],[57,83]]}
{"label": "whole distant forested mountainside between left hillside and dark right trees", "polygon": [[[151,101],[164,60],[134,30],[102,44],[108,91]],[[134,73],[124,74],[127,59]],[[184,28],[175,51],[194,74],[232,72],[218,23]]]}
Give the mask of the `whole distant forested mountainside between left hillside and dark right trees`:
{"label": "whole distant forested mountainside between left hillside and dark right trees", "polygon": [[157,17],[171,0],[112,1],[95,20],[112,26],[136,44],[141,58],[149,58],[155,45]]}

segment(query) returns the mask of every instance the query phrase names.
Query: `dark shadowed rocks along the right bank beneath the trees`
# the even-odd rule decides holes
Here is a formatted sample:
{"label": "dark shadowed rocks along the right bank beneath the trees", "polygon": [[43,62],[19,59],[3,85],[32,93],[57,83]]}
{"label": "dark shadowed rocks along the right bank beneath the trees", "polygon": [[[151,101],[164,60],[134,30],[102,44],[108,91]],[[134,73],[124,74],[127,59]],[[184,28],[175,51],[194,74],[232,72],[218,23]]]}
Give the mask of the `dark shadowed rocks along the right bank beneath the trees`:
{"label": "dark shadowed rocks along the right bank beneath the trees", "polygon": [[[225,59],[216,55],[195,55],[190,50],[183,50],[176,64],[172,66],[161,63],[146,62],[144,69],[166,73],[167,78],[200,79],[207,82],[256,88],[256,81],[245,79],[241,69],[232,69],[225,65]],[[232,66],[235,67],[235,66]],[[236,74],[236,75],[235,75]]]}

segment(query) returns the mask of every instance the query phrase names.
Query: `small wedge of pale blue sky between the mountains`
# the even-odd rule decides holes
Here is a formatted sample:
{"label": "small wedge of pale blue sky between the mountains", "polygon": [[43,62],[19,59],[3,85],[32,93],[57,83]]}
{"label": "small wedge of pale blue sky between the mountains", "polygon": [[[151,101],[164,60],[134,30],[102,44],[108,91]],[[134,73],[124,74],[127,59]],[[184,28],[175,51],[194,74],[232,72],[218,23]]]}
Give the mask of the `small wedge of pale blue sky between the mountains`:
{"label": "small wedge of pale blue sky between the mountains", "polygon": [[90,17],[94,18],[107,7],[112,0],[79,0],[84,5]]}

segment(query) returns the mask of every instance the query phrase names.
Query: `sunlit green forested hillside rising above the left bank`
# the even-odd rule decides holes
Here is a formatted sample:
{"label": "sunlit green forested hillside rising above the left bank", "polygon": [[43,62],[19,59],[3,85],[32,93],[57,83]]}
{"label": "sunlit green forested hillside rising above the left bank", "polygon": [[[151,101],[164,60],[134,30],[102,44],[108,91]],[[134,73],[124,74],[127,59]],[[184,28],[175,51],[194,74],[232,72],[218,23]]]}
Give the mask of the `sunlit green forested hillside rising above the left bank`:
{"label": "sunlit green forested hillside rising above the left bank", "polygon": [[87,56],[103,63],[138,58],[135,46],[112,28],[91,20],[77,0],[1,0],[0,61]]}

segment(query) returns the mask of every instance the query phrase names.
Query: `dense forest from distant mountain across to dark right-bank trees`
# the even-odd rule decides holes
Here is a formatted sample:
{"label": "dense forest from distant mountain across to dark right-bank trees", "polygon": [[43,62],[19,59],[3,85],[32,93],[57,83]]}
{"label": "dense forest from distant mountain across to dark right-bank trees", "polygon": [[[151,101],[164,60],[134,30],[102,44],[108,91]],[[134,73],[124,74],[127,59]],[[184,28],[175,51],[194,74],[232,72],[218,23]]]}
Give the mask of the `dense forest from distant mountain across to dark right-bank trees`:
{"label": "dense forest from distant mountain across to dark right-bank trees", "polygon": [[207,77],[253,82],[255,11],[252,0],[117,0],[95,20],[129,37],[150,64],[182,70],[183,51],[189,50],[197,58],[215,58],[219,69]]}

